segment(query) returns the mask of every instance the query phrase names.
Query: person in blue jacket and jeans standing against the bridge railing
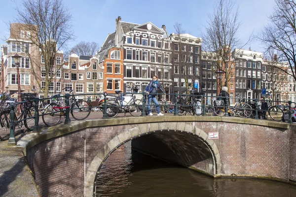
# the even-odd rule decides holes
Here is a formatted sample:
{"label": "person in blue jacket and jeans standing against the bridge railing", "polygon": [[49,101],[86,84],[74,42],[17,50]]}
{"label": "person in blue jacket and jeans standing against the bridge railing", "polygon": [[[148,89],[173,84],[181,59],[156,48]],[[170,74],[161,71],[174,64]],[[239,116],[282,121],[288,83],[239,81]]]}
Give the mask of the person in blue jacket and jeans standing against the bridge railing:
{"label": "person in blue jacket and jeans standing against the bridge railing", "polygon": [[153,80],[150,81],[150,83],[148,84],[146,90],[147,95],[148,95],[148,116],[153,116],[153,114],[151,113],[151,100],[153,100],[154,104],[156,105],[156,111],[157,111],[157,116],[163,116],[163,114],[160,112],[160,108],[159,108],[159,103],[157,102],[156,96],[157,96],[157,91],[160,90],[163,94],[165,94],[164,90],[161,87],[160,82],[158,81],[158,77],[157,76],[153,76],[152,77]]}

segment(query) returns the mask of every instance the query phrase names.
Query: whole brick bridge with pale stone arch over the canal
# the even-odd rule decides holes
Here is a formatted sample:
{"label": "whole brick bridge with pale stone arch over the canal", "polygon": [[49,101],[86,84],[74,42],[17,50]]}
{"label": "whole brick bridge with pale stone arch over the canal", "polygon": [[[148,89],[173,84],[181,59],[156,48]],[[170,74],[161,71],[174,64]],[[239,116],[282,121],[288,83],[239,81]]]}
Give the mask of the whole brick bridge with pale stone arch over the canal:
{"label": "whole brick bridge with pale stone arch over the canal", "polygon": [[[219,132],[219,139],[209,139],[209,132]],[[129,140],[133,148],[212,177],[296,182],[296,126],[274,121],[206,116],[76,121],[26,135],[17,146],[24,148],[41,196],[76,197],[85,190],[92,197],[102,164]]]}

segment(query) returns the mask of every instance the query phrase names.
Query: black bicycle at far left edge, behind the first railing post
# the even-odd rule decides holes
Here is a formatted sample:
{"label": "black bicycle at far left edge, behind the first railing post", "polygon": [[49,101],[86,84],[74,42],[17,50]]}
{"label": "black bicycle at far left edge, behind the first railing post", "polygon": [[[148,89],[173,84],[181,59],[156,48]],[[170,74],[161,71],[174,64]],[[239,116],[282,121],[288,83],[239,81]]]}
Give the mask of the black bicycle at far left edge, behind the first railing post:
{"label": "black bicycle at far left edge, behind the first railing post", "polygon": [[[19,134],[22,129],[23,124],[25,125],[27,131],[33,131],[35,125],[35,107],[31,100],[23,102],[24,110],[19,117],[14,116],[15,121],[15,135]],[[10,109],[5,109],[0,112],[0,139],[7,140],[10,136]]]}

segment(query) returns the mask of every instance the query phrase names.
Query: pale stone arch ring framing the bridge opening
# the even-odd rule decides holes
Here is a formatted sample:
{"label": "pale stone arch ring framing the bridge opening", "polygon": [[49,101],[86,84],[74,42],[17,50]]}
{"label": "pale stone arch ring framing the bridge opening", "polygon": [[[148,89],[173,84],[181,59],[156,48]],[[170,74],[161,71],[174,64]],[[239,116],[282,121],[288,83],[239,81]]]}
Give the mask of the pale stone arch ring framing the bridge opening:
{"label": "pale stone arch ring framing the bridge opening", "polygon": [[[119,146],[130,140],[137,140],[140,139],[140,137],[148,136],[149,134],[163,132],[182,133],[185,135],[191,135],[191,138],[195,138],[195,140],[197,140],[200,143],[200,148],[205,150],[205,152],[208,153],[208,156],[210,156],[211,163],[208,165],[208,167],[204,169],[198,169],[195,167],[191,168],[197,169],[214,177],[220,175],[221,161],[218,147],[215,144],[214,140],[208,139],[208,134],[205,131],[195,127],[194,122],[161,122],[139,124],[138,127],[131,128],[114,136],[107,144],[105,144],[104,147],[102,147],[98,151],[97,155],[94,157],[87,170],[85,185],[86,196],[93,196],[95,192],[94,183],[97,173],[99,172],[101,166],[104,164],[106,159],[110,156],[110,154],[113,151],[115,151]],[[172,134],[170,133],[170,135]]]}

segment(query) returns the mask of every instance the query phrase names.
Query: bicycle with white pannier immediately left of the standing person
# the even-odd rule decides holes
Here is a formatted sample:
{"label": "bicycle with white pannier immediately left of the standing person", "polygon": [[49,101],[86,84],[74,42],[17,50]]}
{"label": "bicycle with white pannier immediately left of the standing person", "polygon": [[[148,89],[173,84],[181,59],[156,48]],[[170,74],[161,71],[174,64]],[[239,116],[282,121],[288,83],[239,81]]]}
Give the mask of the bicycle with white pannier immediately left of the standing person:
{"label": "bicycle with white pannier immediately left of the standing person", "polygon": [[[114,99],[109,98],[106,102],[107,105],[107,117],[114,118],[119,113],[127,113],[129,112],[132,116],[141,116],[143,112],[143,96],[134,95],[134,93],[139,93],[139,86],[135,86],[133,84],[129,84],[127,86],[131,88],[131,93],[124,94],[122,97],[119,95],[122,93],[121,90],[116,90],[115,93],[117,97]],[[103,112],[105,113],[105,109],[103,108]]]}

